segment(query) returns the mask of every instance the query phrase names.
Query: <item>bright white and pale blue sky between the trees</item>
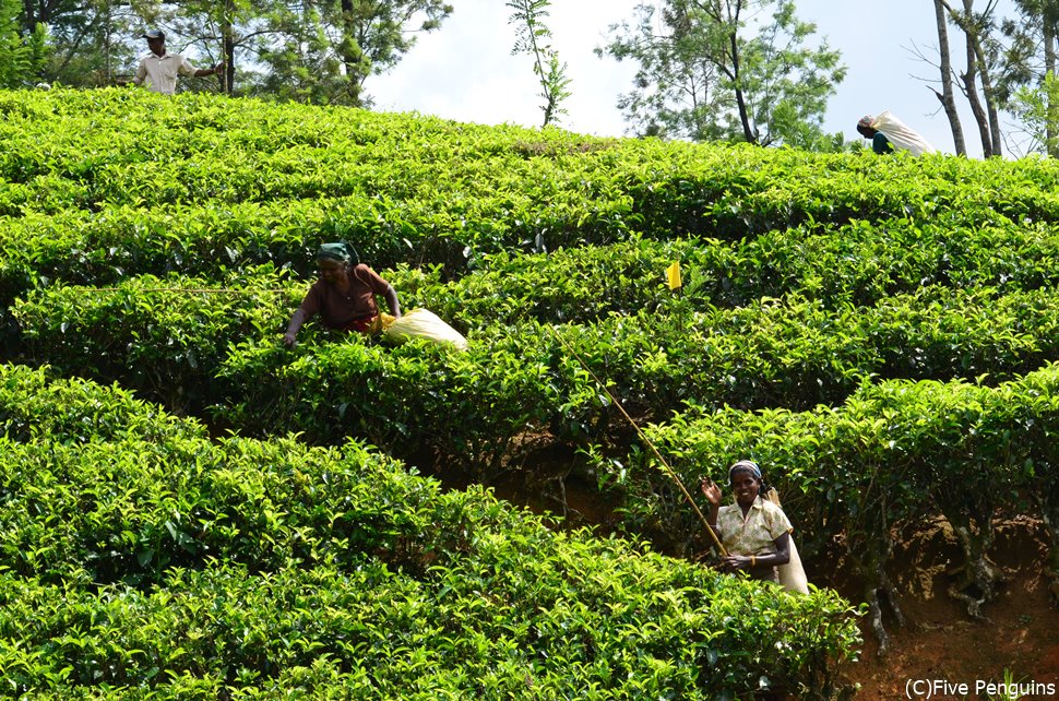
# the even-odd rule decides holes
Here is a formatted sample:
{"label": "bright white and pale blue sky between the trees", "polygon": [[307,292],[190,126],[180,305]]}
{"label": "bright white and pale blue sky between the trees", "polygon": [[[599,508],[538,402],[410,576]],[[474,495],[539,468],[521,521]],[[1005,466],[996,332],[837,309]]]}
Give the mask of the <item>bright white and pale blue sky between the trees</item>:
{"label": "bright white and pale blue sky between the trees", "polygon": [[[633,9],[654,0],[552,0],[545,24],[567,63],[572,95],[560,127],[599,136],[629,135],[617,107],[632,84],[635,66],[598,57],[610,25],[631,20]],[[512,56],[515,28],[503,0],[450,0],[453,13],[437,32],[421,35],[391,72],[366,83],[376,109],[418,111],[456,121],[538,127],[539,85],[527,55]],[[1010,2],[1001,2],[1001,7]],[[845,80],[828,103],[823,129],[861,139],[864,115],[889,109],[938,151],[953,153],[949,120],[931,87],[938,69],[918,58],[917,47],[937,62],[938,34],[930,0],[890,0],[869,5],[842,0],[796,0],[796,15],[817,25],[813,45],[826,40],[842,52]],[[877,8],[874,10],[870,8]],[[879,8],[885,8],[881,10]],[[964,57],[962,35],[950,29],[953,62]],[[957,95],[968,155],[981,156],[977,128]],[[867,142],[866,142],[867,143]],[[1007,151],[1006,151],[1007,153]],[[1010,154],[1009,154],[1010,155]]]}

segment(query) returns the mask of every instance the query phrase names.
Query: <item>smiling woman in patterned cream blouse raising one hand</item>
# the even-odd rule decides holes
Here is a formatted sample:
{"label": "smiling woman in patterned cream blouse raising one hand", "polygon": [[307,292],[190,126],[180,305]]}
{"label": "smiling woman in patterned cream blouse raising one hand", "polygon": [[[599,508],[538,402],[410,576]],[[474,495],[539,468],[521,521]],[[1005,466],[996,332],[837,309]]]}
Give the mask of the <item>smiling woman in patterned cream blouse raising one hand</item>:
{"label": "smiling woman in patterned cream blouse raising one hand", "polygon": [[747,572],[751,579],[780,583],[777,567],[790,560],[790,521],[783,509],[761,494],[761,468],[740,460],[728,468],[728,484],[735,503],[721,506],[721,488],[702,478],[702,494],[710,502],[706,522],[728,555],[722,561],[726,572]]}

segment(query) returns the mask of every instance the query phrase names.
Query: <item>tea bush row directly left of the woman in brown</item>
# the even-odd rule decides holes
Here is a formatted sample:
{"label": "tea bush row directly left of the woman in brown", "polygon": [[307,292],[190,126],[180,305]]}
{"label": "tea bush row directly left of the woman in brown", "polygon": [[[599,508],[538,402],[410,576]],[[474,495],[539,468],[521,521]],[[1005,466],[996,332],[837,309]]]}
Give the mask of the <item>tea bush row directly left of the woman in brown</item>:
{"label": "tea bush row directly left of the woman in brown", "polygon": [[295,297],[271,265],[219,283],[144,276],[112,288],[57,285],[13,310],[23,353],[58,370],[124,387],[188,412],[223,399],[228,347],[282,331]]}

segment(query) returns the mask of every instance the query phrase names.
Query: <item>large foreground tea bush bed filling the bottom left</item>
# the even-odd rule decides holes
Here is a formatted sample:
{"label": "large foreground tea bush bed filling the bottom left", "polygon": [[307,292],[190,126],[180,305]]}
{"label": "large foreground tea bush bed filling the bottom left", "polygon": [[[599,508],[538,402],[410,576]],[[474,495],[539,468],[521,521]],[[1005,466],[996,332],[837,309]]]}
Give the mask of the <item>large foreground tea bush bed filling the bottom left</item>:
{"label": "large foreground tea bush bed filling the bottom left", "polygon": [[[73,400],[58,417],[94,403],[150,423],[121,393],[55,384]],[[828,698],[859,644],[831,592],[555,533],[355,443],[155,435],[0,437],[9,693]]]}

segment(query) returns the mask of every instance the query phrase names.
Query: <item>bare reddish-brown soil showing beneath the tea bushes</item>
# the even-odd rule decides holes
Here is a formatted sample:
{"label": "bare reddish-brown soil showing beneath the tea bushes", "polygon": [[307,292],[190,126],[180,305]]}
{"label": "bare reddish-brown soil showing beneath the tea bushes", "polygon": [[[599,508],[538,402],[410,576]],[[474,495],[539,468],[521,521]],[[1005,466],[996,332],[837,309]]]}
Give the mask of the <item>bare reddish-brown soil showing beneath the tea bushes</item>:
{"label": "bare reddish-brown soil showing beneath the tea bushes", "polygon": [[[526,474],[515,471],[490,486],[503,499],[537,512],[567,515],[574,524],[606,527],[610,521],[610,504],[599,503],[594,488],[579,487],[570,475],[527,484],[523,479]],[[451,480],[450,486],[461,486],[454,482],[461,480]],[[999,598],[983,607],[984,621],[973,620],[966,607],[947,593],[960,561],[960,548],[943,520],[902,533],[899,538],[890,572],[907,626],[899,628],[892,617],[887,619],[892,646],[889,654],[879,656],[873,633],[867,621],[861,621],[865,647],[860,661],[845,670],[848,682],[859,685],[853,698],[926,699],[926,693],[906,696],[906,688],[917,680],[939,680],[949,686],[929,698],[999,700],[1003,697],[976,693],[976,682],[1002,684],[1007,672],[1014,681],[1050,684],[1056,689],[1054,694],[1023,699],[1059,701],[1059,609],[1052,606],[1045,575],[1048,547],[1043,524],[1027,516],[997,523],[991,557],[1008,581]],[[861,584],[841,558],[822,556],[816,561],[806,559],[804,565],[814,584],[835,589],[853,603],[860,601]],[[959,685],[967,685],[968,692],[962,693]],[[925,688],[920,682],[920,689]]]}

